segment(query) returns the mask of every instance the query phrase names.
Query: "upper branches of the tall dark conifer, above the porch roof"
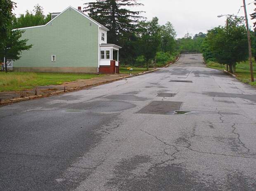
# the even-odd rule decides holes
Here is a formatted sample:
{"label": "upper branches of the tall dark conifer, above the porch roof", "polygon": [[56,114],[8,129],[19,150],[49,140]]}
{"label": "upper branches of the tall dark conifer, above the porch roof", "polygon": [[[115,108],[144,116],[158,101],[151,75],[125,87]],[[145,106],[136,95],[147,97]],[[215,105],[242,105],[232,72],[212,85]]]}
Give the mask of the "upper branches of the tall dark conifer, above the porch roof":
{"label": "upper branches of the tall dark conifer, above the porch roof", "polygon": [[135,33],[138,22],[143,19],[142,11],[131,11],[127,7],[143,5],[137,0],[96,0],[85,3],[83,12],[109,28],[109,43],[118,43],[120,38]]}

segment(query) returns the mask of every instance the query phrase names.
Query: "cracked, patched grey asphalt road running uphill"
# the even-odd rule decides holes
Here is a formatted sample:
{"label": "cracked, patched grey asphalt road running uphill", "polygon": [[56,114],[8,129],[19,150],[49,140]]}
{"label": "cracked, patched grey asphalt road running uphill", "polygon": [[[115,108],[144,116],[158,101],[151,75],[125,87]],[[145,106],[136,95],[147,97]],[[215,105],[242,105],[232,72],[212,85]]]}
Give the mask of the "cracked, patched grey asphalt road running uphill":
{"label": "cracked, patched grey asphalt road running uphill", "polygon": [[183,55],[0,107],[1,191],[255,191],[256,89]]}

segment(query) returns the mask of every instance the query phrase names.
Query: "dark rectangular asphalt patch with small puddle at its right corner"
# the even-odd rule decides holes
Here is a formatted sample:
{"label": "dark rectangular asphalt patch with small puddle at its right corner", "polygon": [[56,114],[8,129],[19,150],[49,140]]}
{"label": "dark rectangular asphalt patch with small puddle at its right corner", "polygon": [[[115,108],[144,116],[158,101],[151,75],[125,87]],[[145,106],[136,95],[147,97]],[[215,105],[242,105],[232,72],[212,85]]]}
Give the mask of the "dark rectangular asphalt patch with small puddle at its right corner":
{"label": "dark rectangular asphalt patch with small puddle at its right corner", "polygon": [[139,114],[173,114],[174,111],[180,110],[183,102],[173,101],[152,101],[149,105],[143,107],[138,111]]}

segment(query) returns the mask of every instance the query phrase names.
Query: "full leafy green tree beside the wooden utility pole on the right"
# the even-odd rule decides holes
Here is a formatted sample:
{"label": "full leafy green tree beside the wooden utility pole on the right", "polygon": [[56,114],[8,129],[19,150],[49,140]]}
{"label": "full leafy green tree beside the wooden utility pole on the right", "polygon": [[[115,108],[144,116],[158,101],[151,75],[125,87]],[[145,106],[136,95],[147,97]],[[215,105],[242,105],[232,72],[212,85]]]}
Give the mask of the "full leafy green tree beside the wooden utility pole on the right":
{"label": "full leafy green tree beside the wooden utility pole on the right", "polygon": [[228,23],[228,27],[219,26],[208,31],[203,53],[206,60],[228,64],[233,72],[237,62],[248,58],[247,30],[241,19],[230,17]]}

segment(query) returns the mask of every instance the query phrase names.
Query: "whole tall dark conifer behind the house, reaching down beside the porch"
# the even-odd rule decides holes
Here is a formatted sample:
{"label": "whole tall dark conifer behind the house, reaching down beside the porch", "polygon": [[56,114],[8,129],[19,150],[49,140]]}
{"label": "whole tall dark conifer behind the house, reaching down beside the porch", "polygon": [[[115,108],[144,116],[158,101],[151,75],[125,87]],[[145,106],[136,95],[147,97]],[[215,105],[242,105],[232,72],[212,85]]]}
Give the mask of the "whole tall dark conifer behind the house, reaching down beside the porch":
{"label": "whole tall dark conifer behind the house, reaching down beside the porch", "polygon": [[134,63],[136,58],[136,28],[143,19],[141,11],[131,11],[128,7],[141,6],[137,0],[96,0],[85,3],[84,12],[92,19],[109,28],[108,43],[123,47],[120,51],[122,62]]}

